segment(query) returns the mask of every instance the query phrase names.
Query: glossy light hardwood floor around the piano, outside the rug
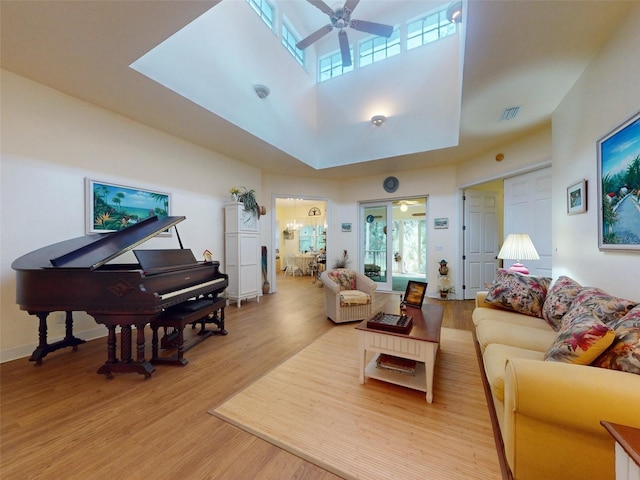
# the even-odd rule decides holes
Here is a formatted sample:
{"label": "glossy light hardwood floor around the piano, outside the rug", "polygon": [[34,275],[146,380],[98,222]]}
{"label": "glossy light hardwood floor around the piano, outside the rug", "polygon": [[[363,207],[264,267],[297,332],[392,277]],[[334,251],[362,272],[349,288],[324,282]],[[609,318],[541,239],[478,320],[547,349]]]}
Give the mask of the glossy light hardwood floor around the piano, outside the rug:
{"label": "glossy light hardwood floor around the piano, outside the rug", "polygon": [[[444,305],[445,327],[471,330],[473,301],[425,301]],[[35,340],[36,320],[20,315]],[[277,293],[227,307],[226,327],[186,352],[187,366],[157,366],[148,380],[96,374],[106,338],[51,353],[40,367],[26,358],[0,365],[0,477],[337,479],[207,413],[334,327],[324,291],[310,277],[280,275]]]}

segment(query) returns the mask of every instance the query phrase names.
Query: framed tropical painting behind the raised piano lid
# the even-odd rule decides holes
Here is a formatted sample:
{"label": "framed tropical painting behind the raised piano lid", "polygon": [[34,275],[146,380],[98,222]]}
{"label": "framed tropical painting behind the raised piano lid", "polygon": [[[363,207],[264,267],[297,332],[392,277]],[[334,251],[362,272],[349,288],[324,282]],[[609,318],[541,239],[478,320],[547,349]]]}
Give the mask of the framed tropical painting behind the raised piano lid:
{"label": "framed tropical painting behind the raised piano lid", "polygon": [[165,192],[90,178],[85,178],[85,192],[87,233],[116,232],[154,215],[167,216],[171,211],[171,195]]}

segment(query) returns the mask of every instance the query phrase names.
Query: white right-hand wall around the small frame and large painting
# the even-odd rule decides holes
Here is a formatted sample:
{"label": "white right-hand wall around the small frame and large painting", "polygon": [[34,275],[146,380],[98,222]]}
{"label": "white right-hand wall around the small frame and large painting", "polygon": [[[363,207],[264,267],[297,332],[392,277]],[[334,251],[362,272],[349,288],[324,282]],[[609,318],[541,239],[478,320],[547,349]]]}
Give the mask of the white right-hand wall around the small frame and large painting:
{"label": "white right-hand wall around the small frame and large painting", "polygon": [[[640,252],[598,249],[596,142],[640,110],[640,4],[553,114],[554,277],[640,301]],[[588,210],[566,214],[566,189],[588,181]]]}

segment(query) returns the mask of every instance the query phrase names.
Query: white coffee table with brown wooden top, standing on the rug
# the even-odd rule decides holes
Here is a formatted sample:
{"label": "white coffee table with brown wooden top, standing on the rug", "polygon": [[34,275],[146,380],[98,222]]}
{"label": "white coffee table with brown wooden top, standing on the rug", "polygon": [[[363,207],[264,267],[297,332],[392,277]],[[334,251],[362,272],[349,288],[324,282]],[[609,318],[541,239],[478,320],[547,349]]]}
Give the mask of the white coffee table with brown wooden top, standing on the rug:
{"label": "white coffee table with brown wooden top, standing on the rug", "polygon": [[[390,302],[387,308],[392,303]],[[369,377],[413,388],[426,392],[427,402],[432,403],[433,376],[440,346],[443,311],[440,305],[435,304],[423,305],[421,309],[407,307],[407,315],[413,317],[413,328],[407,334],[367,328],[367,320],[363,320],[356,327],[360,383],[364,384],[365,377]],[[376,353],[368,363],[367,352]],[[415,376],[377,368],[376,359],[382,353],[419,362]]]}

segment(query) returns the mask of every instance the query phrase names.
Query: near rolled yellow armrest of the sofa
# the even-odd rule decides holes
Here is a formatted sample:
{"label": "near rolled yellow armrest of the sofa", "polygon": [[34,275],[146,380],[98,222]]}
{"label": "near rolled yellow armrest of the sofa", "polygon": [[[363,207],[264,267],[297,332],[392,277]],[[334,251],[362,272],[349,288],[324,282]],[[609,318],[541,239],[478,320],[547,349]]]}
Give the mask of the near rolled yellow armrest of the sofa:
{"label": "near rolled yellow armrest of the sofa", "polygon": [[640,427],[640,375],[511,358],[502,439],[515,478],[613,478],[614,450],[600,425]]}

